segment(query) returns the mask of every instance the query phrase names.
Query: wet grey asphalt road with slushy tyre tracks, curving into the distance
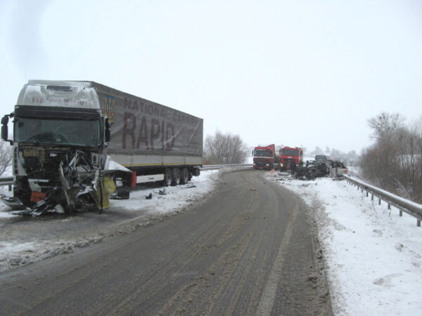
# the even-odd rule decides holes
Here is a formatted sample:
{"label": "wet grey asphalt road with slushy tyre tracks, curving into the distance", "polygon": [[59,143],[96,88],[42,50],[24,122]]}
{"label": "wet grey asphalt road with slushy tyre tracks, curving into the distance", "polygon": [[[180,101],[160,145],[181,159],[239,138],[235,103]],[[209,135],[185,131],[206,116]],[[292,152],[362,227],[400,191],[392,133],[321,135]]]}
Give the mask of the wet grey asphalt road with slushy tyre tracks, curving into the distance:
{"label": "wet grey asphalt road with slushy tyre tracks, curving into the distance", "polygon": [[263,174],[225,173],[177,216],[2,273],[0,315],[332,315],[308,210]]}

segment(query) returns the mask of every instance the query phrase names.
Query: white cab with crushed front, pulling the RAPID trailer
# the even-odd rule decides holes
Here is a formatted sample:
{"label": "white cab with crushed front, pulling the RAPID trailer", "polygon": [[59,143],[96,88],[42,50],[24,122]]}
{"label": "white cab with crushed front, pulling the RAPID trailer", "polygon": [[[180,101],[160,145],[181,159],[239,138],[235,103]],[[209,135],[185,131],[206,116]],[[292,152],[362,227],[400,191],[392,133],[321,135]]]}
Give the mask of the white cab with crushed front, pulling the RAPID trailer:
{"label": "white cab with crushed front, pulling the RAPID trailer", "polygon": [[38,215],[106,206],[114,186],[104,169],[110,131],[88,90],[27,84],[15,112],[2,119],[1,136],[8,140],[13,118],[13,140],[8,140],[13,145],[13,197],[3,199],[12,209]]}

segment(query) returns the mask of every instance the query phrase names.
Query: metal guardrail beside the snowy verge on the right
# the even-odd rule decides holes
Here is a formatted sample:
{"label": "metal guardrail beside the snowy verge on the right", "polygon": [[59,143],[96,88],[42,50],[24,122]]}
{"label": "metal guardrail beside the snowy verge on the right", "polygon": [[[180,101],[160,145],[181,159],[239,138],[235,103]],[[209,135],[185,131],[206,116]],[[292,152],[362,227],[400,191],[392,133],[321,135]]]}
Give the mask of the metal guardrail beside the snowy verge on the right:
{"label": "metal guardrail beside the snowy verge on the right", "polygon": [[410,216],[413,216],[414,218],[416,218],[416,225],[418,227],[421,227],[421,220],[422,220],[422,205],[421,204],[411,202],[408,199],[404,199],[397,195],[393,195],[390,192],[381,190],[378,187],[374,187],[373,185],[369,185],[360,180],[353,179],[350,176],[344,176],[344,177],[347,180],[347,183],[357,186],[357,190],[361,190],[362,192],[366,191],[366,197],[369,197],[369,193],[371,193],[371,200],[373,200],[373,197],[377,197],[378,205],[381,205],[381,200],[383,200],[387,202],[388,209],[391,209],[391,206],[397,207],[397,209],[399,209],[399,216],[402,216],[403,212],[407,213]]}

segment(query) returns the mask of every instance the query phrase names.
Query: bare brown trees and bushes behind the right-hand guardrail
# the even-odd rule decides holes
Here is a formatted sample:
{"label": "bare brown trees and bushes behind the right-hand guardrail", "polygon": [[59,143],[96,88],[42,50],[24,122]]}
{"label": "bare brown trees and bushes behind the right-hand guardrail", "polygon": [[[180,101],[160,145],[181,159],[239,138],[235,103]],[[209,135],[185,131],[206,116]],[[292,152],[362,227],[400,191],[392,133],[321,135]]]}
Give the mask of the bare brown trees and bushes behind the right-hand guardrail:
{"label": "bare brown trees and bushes behind the right-hand guardrail", "polygon": [[422,117],[404,124],[400,114],[383,112],[368,124],[374,143],[361,154],[361,176],[383,190],[421,203]]}

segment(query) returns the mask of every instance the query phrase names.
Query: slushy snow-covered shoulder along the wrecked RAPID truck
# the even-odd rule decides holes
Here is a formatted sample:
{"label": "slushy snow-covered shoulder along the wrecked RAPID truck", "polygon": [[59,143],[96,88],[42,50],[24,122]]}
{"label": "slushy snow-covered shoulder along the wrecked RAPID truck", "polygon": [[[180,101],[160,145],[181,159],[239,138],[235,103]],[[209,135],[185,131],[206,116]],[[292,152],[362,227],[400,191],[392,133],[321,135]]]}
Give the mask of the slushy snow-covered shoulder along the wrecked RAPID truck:
{"label": "slushy snow-covered shoulder along the wrecked RAPID truck", "polygon": [[[12,215],[0,202],[0,272],[69,253],[180,213],[202,201],[215,187],[221,172],[202,171],[186,185],[166,187],[166,195],[160,195],[158,187],[131,192],[130,199],[110,200],[110,209],[101,215],[87,212],[27,218]],[[2,189],[7,195],[6,187]],[[150,193],[152,198],[146,199]]]}

